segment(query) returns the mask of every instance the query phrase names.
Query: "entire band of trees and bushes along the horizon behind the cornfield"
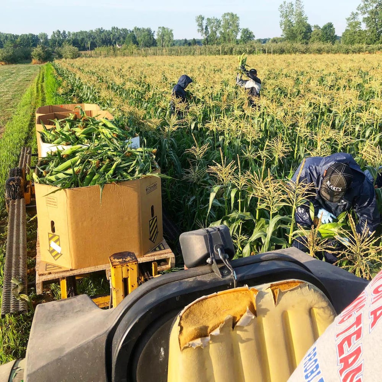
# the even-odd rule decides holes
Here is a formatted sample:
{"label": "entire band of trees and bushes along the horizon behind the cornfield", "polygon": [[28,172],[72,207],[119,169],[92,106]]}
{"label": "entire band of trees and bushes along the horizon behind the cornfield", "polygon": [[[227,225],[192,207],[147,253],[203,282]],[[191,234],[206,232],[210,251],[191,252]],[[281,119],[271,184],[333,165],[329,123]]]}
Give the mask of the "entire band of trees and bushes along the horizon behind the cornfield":
{"label": "entire band of trees and bushes along the horizon behind the cornfield", "polygon": [[309,24],[302,0],[283,1],[278,10],[282,36],[270,39],[256,40],[253,31],[240,27],[239,16],[232,12],[223,13],[221,18],[196,16],[196,32],[202,39],[191,40],[174,40],[173,30],[164,26],[157,31],[139,27],[79,32],[57,30],[50,37],[44,32],[37,35],[0,32],[0,62],[74,58],[79,51],[95,56],[162,55],[165,52],[170,55],[232,54],[230,52],[247,50],[248,53],[271,50],[278,54],[358,53],[376,52],[382,44],[382,0],[361,0],[356,11],[346,19],[341,37],[336,35],[330,21],[322,26]]}

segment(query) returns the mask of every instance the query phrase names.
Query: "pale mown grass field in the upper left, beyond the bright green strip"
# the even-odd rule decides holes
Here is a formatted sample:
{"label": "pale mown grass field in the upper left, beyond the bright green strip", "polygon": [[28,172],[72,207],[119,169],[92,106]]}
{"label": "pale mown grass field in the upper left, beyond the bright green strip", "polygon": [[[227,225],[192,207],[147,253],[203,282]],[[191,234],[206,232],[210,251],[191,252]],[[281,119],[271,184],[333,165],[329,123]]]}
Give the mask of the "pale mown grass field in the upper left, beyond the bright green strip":
{"label": "pale mown grass field in the upper left, beyond the bright green strip", "polygon": [[39,73],[39,65],[0,66],[0,136],[21,96]]}

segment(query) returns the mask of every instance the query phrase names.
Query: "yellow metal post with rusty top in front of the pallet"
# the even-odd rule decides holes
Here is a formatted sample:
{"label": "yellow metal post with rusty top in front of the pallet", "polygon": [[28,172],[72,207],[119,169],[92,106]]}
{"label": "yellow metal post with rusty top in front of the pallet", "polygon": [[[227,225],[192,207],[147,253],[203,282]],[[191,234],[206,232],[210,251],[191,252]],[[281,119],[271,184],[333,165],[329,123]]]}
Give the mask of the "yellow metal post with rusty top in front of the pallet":
{"label": "yellow metal post with rusty top in front of the pallet", "polygon": [[115,308],[128,293],[138,287],[138,260],[133,252],[120,252],[110,256],[109,262],[112,303]]}

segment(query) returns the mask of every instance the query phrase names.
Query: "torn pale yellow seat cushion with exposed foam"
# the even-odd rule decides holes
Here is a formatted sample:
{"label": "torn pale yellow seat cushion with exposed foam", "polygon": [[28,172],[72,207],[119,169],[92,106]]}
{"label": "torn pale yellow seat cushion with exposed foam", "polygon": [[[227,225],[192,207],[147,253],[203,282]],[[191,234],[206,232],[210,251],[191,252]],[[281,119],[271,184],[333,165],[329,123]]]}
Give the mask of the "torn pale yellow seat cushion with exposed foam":
{"label": "torn pale yellow seat cushion with exposed foam", "polygon": [[285,382],[334,317],[326,296],[299,280],[204,296],[175,320],[167,380]]}

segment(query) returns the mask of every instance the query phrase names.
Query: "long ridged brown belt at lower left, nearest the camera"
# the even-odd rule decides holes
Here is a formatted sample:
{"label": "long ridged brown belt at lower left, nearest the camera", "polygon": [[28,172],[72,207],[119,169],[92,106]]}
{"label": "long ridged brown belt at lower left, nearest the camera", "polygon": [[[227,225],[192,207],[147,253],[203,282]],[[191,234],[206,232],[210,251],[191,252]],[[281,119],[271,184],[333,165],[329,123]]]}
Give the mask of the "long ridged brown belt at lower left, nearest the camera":
{"label": "long ridged brown belt at lower left, nearest the camera", "polygon": [[[26,265],[26,216],[25,199],[11,200],[8,214],[8,234],[5,250],[5,266],[3,278],[3,296],[1,315],[26,311],[26,301],[16,299],[17,285],[12,283],[15,277],[24,285],[21,291],[27,294],[27,265]],[[12,291],[14,289],[15,291]]]}

